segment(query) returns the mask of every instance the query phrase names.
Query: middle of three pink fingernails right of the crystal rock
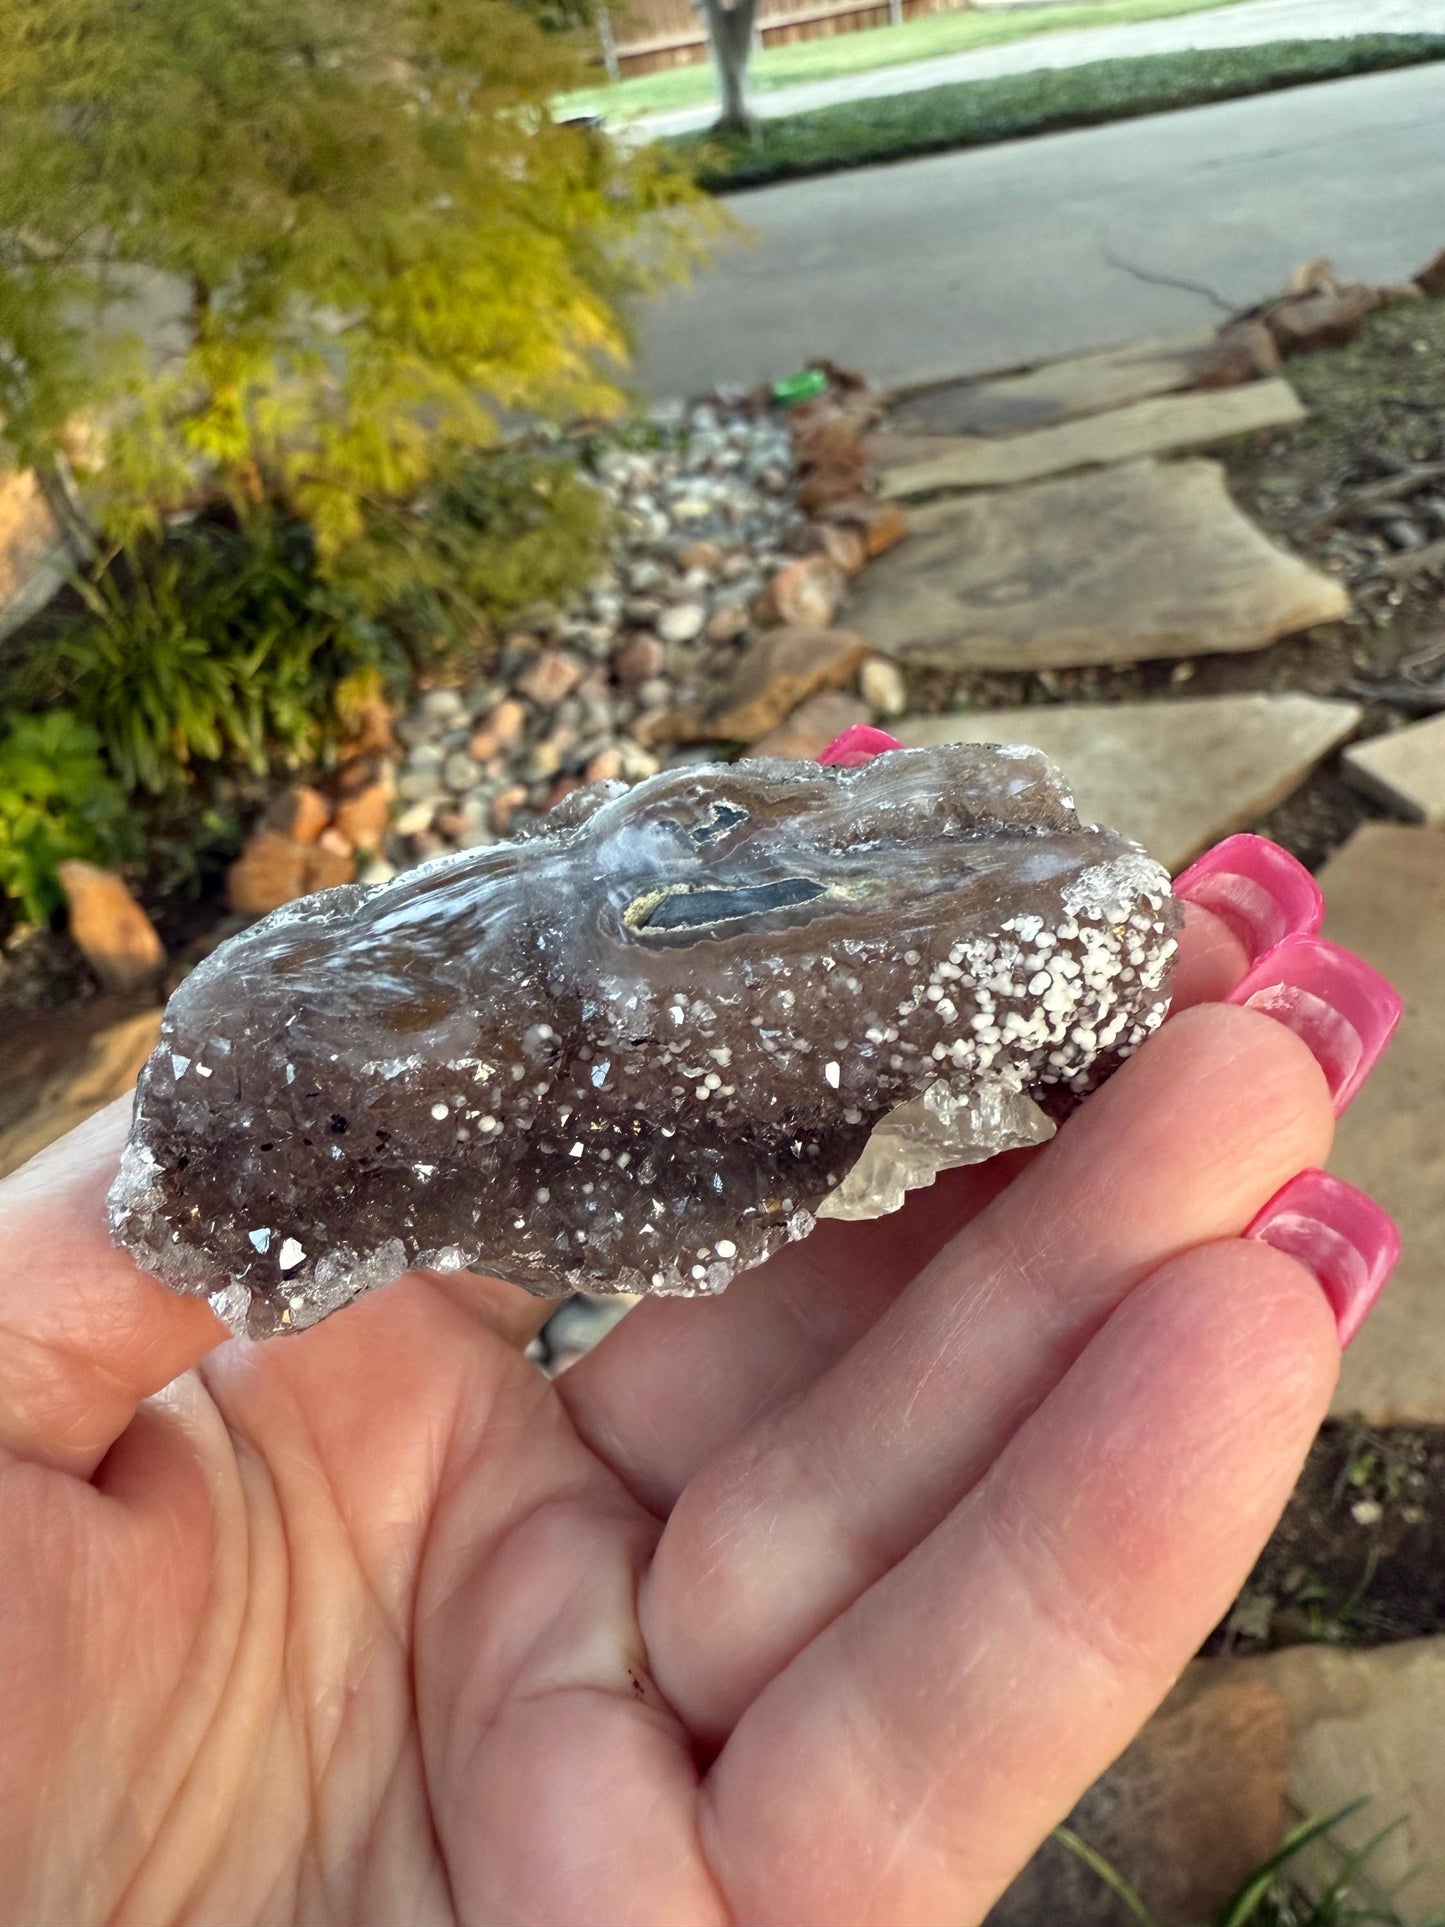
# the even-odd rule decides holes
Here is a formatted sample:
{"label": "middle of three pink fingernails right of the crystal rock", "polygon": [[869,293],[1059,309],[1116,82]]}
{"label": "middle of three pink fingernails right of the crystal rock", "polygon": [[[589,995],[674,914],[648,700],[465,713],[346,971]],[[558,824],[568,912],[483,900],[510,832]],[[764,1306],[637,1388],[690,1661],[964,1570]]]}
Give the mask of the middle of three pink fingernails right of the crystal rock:
{"label": "middle of three pink fingernails right of the crystal rock", "polygon": [[1225,1002],[1262,1010],[1304,1039],[1337,1118],[1379,1062],[1405,1008],[1379,971],[1324,937],[1287,937],[1245,971]]}

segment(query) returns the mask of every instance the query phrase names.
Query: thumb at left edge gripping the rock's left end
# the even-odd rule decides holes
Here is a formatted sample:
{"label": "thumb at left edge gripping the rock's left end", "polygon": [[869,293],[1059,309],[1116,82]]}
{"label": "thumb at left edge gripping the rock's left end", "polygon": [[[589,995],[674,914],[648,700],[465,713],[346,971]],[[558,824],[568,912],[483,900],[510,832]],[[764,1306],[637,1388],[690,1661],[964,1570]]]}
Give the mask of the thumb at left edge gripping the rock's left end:
{"label": "thumb at left edge gripping the rock's left end", "polygon": [[229,1333],[110,1241],[131,1098],[0,1179],[0,1453],[89,1478],[141,1399]]}

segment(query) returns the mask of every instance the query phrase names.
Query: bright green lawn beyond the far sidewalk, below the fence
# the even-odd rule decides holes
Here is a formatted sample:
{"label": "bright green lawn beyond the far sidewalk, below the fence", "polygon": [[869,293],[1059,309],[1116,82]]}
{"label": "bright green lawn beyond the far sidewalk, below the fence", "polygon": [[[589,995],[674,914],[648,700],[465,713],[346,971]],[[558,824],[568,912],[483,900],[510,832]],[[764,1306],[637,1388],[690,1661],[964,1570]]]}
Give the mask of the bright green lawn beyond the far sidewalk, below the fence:
{"label": "bright green lawn beyond the far sidewalk, below the fence", "polygon": [[[969,54],[979,46],[1029,40],[1062,27],[1117,27],[1135,19],[1173,19],[1175,13],[1204,13],[1237,0],[1081,0],[1077,6],[1008,8],[1002,13],[933,13],[902,27],[871,27],[867,33],[834,33],[827,40],[800,40],[755,54],[748,85],[755,92],[792,87],[798,81],[830,81],[842,73],[898,67],[907,60],[936,54]],[[663,114],[669,108],[705,106],[717,94],[711,62],[642,73],[617,87],[586,87],[557,102],[566,114]]]}

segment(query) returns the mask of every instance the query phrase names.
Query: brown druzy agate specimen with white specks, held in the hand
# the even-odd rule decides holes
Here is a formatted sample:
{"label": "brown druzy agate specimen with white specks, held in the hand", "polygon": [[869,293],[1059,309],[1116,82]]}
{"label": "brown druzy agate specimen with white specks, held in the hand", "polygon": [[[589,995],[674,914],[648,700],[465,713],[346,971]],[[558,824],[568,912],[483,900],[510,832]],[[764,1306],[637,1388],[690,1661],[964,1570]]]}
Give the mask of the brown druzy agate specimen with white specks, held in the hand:
{"label": "brown druzy agate specimen with white specks, held in the hand", "polygon": [[1098,1081],[1162,1019],[1177,923],[1037,750],[601,784],[200,964],[114,1233],[256,1337],[410,1268],[721,1291],[934,1081]]}

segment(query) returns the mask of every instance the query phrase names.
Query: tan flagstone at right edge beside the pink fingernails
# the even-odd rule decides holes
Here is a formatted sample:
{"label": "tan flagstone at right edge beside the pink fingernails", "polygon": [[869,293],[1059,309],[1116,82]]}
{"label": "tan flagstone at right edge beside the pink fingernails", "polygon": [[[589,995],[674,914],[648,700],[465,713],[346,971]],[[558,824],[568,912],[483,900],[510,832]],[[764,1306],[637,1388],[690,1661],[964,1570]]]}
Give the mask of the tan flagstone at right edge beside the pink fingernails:
{"label": "tan flagstone at right edge beside the pink fingernails", "polygon": [[[1405,1017],[1339,1122],[1329,1168],[1378,1197],[1405,1249],[1345,1355],[1335,1411],[1445,1422],[1445,831],[1366,823],[1320,875],[1327,935],[1381,971]],[[1445,1813],[1445,1808],[1441,1808]]]}

